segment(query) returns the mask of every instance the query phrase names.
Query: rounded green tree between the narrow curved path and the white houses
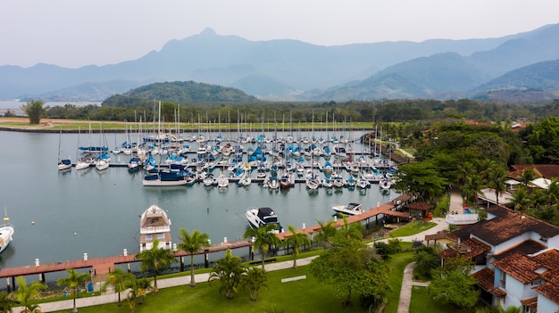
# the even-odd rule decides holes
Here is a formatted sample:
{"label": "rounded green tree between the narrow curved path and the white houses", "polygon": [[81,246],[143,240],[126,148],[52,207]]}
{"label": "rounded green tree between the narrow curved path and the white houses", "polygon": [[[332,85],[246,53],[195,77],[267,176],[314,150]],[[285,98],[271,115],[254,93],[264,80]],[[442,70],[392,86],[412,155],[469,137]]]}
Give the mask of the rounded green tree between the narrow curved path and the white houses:
{"label": "rounded green tree between the narrow curved path and the white houses", "polygon": [[458,308],[472,308],[479,299],[476,280],[470,276],[474,265],[471,259],[458,256],[446,259],[443,266],[431,271],[431,283],[427,287],[430,297],[443,304]]}

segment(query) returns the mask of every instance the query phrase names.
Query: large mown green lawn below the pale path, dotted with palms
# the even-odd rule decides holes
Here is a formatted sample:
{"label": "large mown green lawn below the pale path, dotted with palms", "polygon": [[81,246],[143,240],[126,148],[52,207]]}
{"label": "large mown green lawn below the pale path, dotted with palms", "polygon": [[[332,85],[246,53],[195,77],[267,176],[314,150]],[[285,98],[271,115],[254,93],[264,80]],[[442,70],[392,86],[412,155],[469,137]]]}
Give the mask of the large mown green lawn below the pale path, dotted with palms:
{"label": "large mown green lawn below the pale path, dotted with palms", "polygon": [[[269,288],[263,288],[257,301],[250,301],[248,291],[239,292],[233,300],[227,300],[219,293],[219,284],[198,282],[195,288],[188,285],[161,289],[156,295],[150,294],[135,312],[363,312],[355,297],[354,307],[342,309],[340,300],[335,298],[332,288],[319,284],[308,274],[308,267],[271,271],[268,276]],[[281,283],[282,278],[304,276],[306,279]],[[71,312],[71,309],[60,312]],[[95,307],[79,308],[79,312],[129,312],[128,302],[121,308],[116,303]]]}

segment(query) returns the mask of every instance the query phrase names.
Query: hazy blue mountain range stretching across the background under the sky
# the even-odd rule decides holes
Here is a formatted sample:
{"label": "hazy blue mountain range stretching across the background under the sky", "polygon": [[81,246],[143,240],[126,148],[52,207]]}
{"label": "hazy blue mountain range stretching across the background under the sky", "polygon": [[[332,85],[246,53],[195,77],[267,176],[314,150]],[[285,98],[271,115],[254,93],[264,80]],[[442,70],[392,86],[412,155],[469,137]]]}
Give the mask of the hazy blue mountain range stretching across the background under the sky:
{"label": "hazy blue mountain range stretching across the background under the sky", "polygon": [[[0,99],[103,101],[146,83],[188,80],[234,86],[276,100],[321,99],[337,89],[339,100],[457,95],[466,86],[480,85],[508,70],[556,59],[558,38],[559,24],[500,38],[335,46],[249,41],[205,29],[171,40],[161,51],[118,64],[79,69],[0,66]],[[445,64],[450,67],[445,69]],[[82,91],[84,86],[89,90]]]}

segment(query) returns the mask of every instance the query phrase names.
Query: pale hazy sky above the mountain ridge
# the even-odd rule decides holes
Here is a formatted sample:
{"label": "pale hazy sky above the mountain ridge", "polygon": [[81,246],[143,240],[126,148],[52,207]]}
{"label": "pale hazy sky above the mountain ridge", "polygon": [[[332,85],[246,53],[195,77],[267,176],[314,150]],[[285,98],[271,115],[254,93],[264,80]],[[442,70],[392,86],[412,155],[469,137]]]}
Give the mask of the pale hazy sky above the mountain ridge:
{"label": "pale hazy sky above the mountain ridge", "polygon": [[118,63],[205,28],[346,45],[502,37],[555,23],[558,0],[3,0],[0,65]]}

